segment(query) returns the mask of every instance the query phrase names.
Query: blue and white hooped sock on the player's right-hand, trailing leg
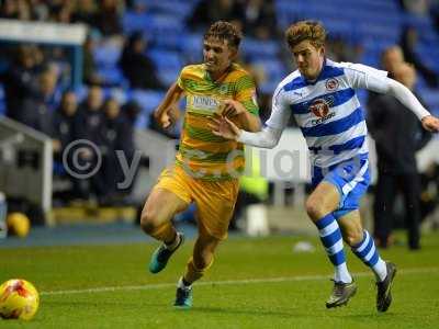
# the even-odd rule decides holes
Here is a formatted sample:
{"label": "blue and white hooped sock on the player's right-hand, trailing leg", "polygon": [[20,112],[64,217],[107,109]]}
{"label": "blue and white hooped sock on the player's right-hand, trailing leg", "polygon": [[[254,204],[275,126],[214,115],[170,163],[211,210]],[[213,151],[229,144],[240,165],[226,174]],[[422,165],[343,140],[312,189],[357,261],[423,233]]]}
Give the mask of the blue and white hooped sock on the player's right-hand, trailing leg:
{"label": "blue and white hooped sock on the player's right-hand, trailing leg", "polygon": [[363,232],[363,239],[360,243],[352,247],[352,251],[363,261],[364,264],[372,269],[378,281],[383,281],[385,279],[387,275],[385,262],[381,259],[375,248],[375,243],[373,242],[373,238],[365,229]]}

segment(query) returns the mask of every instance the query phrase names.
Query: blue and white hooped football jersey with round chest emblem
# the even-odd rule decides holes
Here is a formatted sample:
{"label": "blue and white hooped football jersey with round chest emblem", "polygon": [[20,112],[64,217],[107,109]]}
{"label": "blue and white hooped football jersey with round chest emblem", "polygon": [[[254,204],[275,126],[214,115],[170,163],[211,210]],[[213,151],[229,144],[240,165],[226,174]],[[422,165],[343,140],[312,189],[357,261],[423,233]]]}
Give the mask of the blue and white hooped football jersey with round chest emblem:
{"label": "blue and white hooped football jersey with round chest emblem", "polygon": [[266,124],[283,129],[285,117],[293,114],[306,139],[313,166],[329,167],[367,155],[368,128],[356,89],[368,89],[371,77],[386,79],[386,71],[365,65],[329,59],[313,82],[295,70],[274,91],[272,113]]}

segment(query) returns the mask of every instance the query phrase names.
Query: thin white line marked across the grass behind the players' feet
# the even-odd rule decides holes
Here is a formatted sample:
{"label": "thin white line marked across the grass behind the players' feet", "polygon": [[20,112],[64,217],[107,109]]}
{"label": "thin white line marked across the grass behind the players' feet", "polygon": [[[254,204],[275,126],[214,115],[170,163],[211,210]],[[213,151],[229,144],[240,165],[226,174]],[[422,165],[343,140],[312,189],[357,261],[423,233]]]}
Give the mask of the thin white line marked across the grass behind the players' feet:
{"label": "thin white line marked across the grass behind the players' feet", "polygon": [[[420,274],[420,273],[438,273],[439,268],[425,268],[425,269],[407,269],[399,270],[399,274]],[[353,276],[370,276],[371,272],[358,272],[352,273]],[[280,277],[266,277],[266,279],[244,279],[244,280],[224,280],[224,281],[201,281],[198,282],[198,286],[203,285],[235,285],[235,284],[252,284],[252,283],[277,283],[277,282],[294,282],[294,281],[318,281],[326,280],[329,275],[299,275],[299,276],[280,276]],[[74,294],[90,294],[90,293],[105,293],[105,292],[119,292],[119,291],[149,291],[175,287],[176,283],[155,283],[145,285],[122,285],[122,286],[103,286],[95,288],[85,290],[69,290],[69,291],[49,291],[41,292],[42,296],[53,295],[74,295]]]}

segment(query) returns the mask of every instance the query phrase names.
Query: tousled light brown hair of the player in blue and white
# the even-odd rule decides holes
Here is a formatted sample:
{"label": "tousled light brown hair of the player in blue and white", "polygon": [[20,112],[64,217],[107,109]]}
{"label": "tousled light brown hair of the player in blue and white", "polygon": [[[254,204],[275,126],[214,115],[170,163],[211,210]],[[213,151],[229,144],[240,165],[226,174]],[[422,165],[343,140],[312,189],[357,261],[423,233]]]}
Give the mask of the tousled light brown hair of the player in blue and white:
{"label": "tousled light brown hair of the player in blue and white", "polygon": [[290,48],[308,39],[314,47],[323,47],[326,41],[325,27],[316,21],[300,21],[292,24],[285,31],[285,39]]}

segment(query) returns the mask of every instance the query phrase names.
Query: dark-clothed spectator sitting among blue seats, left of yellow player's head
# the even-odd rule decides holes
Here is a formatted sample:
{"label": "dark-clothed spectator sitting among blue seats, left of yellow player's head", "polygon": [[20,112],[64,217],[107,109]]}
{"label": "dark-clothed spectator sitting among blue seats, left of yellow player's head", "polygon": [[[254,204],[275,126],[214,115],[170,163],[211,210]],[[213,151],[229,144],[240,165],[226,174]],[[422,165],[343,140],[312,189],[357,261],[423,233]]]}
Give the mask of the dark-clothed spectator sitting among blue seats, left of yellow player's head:
{"label": "dark-clothed spectator sitting among blue seats, left of yellow player's head", "polygon": [[142,32],[134,32],[125,42],[119,66],[133,89],[165,89],[156,73],[154,63],[146,55],[146,41]]}

